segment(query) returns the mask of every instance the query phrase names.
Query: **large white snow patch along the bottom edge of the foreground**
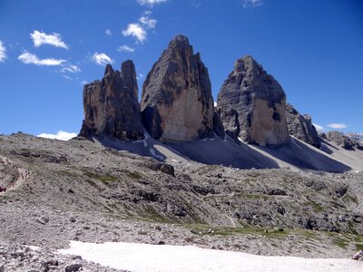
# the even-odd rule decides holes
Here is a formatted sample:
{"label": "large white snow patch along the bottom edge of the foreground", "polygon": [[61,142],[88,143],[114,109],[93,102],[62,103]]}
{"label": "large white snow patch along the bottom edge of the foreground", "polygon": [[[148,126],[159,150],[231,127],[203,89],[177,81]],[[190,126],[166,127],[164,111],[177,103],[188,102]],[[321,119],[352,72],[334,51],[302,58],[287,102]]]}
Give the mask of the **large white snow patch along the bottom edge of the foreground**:
{"label": "large white snow patch along the bottom edge of the foreground", "polygon": [[61,254],[80,255],[83,259],[132,272],[236,272],[236,271],[363,271],[363,262],[351,259],[265,257],[242,252],[157,246],[135,243],[93,244],[71,241]]}

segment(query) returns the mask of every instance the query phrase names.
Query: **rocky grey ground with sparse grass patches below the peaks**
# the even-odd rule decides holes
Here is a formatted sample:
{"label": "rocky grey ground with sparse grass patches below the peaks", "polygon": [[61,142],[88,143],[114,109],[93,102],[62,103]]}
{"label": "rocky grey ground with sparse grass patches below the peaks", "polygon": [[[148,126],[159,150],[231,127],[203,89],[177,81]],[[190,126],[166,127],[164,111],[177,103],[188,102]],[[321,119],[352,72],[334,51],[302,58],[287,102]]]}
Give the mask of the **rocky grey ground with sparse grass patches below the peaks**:
{"label": "rocky grey ground with sparse grass patches below the peaks", "polygon": [[54,253],[70,240],[297,257],[351,258],[363,249],[361,172],[162,162],[82,137],[23,133],[0,136],[0,156],[5,271],[116,271]]}

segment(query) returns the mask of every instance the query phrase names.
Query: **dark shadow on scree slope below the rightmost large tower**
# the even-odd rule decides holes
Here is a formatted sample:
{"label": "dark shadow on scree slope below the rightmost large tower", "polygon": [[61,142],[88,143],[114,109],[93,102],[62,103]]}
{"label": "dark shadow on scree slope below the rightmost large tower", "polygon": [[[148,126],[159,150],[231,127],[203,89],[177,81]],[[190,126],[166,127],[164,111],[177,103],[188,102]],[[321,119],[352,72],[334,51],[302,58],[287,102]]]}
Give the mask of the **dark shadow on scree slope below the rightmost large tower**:
{"label": "dark shadow on scree slope below the rightmost large tower", "polygon": [[259,146],[256,146],[256,148],[300,169],[325,170],[329,172],[344,172],[351,170],[347,165],[321,154],[319,151],[316,151],[315,148],[309,146],[309,144],[292,137],[286,145],[276,149]]}

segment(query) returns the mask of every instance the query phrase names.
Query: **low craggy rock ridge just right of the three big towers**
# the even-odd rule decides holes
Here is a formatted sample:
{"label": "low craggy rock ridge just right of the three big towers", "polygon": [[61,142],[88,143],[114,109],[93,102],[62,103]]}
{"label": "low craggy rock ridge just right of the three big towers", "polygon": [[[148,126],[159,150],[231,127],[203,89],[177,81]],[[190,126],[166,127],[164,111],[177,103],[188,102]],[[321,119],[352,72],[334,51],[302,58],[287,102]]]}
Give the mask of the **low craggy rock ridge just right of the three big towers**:
{"label": "low craggy rock ridge just right of the three big towers", "polygon": [[318,131],[311,122],[311,117],[307,114],[302,116],[290,104],[286,106],[286,122],[288,124],[289,134],[305,141],[312,146],[319,148],[321,146]]}

